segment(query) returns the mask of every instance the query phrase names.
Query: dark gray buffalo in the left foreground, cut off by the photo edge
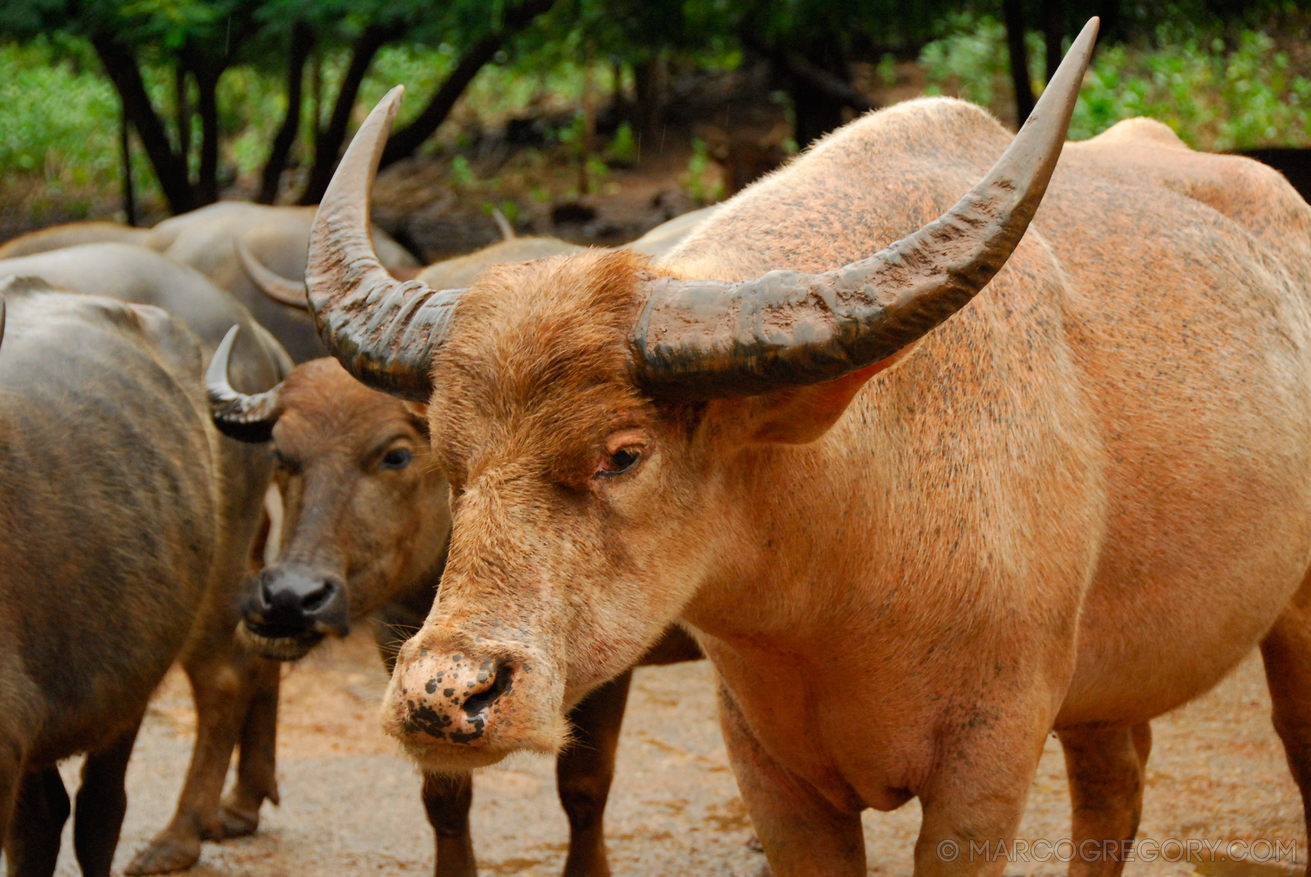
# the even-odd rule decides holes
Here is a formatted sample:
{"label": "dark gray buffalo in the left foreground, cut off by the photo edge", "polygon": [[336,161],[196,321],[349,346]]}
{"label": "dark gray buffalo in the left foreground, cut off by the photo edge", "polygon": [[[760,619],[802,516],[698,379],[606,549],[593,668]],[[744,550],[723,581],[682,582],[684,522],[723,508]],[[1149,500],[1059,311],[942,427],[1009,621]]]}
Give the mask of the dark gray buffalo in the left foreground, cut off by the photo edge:
{"label": "dark gray buffalo in the left foreground, cut off by the photo edge", "polygon": [[[10,874],[50,874],[69,814],[56,763],[87,752],[73,842],[106,877],[151,692],[178,658],[198,701],[220,687],[197,671],[232,641],[215,620],[258,523],[249,455],[212,427],[181,320],[34,278],[0,295],[0,838]],[[275,793],[252,767],[237,797]]]}

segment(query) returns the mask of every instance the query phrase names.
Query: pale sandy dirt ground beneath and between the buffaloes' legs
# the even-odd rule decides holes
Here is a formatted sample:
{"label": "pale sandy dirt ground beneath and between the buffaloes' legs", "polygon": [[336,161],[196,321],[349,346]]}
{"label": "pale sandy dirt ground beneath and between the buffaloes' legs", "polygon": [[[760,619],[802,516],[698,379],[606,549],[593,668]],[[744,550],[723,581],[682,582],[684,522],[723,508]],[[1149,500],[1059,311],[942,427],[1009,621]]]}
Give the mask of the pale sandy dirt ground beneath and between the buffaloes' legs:
{"label": "pale sandy dirt ground beneath and between the buffaloes' legs", "polygon": [[[423,874],[433,867],[431,832],[420,779],[379,731],[385,686],[372,646],[346,641],[290,667],[279,724],[282,806],[265,805],[252,838],[207,843],[195,877],[298,874]],[[1133,861],[1126,874],[1282,877],[1304,869],[1302,805],[1269,724],[1260,659],[1248,658],[1207,696],[1154,724],[1148,788],[1139,838],[1280,840],[1297,861]],[[115,865],[172,813],[190,752],[194,717],[185,679],[174,671],[157,692],[128,768],[128,811]],[[64,766],[76,783],[76,760]],[[919,805],[867,813],[871,874],[909,874]],[[1070,835],[1059,746],[1049,739],[1019,838]],[[568,826],[555,797],[553,766],[523,758],[485,770],[475,781],[473,836],[482,874],[558,874]],[[722,874],[762,877],[714,721],[705,662],[637,671],[607,813],[616,877]],[[66,835],[59,877],[77,874]],[[1181,848],[1164,846],[1179,859]],[[1260,847],[1264,852],[1264,847]],[[118,872],[115,872],[118,873]],[[1016,859],[1006,874],[1057,874],[1065,865]]]}

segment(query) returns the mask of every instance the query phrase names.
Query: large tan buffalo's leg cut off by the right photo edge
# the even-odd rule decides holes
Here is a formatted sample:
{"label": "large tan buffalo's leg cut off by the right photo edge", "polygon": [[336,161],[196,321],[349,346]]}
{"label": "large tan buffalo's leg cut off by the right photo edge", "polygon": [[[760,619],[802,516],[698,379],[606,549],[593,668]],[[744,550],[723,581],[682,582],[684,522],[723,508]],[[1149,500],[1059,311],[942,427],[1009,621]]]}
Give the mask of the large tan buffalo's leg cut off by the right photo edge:
{"label": "large tan buffalo's leg cut off by the right photo edge", "polygon": [[1261,641],[1274,730],[1311,826],[1311,575]]}

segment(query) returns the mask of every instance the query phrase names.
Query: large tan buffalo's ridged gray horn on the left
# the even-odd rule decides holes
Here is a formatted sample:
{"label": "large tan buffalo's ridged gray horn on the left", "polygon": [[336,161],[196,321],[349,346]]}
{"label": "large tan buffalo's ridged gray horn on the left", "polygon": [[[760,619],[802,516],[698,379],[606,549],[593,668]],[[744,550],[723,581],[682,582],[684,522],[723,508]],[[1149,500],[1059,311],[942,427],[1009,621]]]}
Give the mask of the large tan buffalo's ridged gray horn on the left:
{"label": "large tan buffalo's ridged gray horn on the left", "polygon": [[319,336],[362,383],[401,399],[433,395],[433,351],[461,290],[434,291],[387,273],[368,232],[368,198],[404,87],[387,93],[342,156],[309,232],[305,287]]}

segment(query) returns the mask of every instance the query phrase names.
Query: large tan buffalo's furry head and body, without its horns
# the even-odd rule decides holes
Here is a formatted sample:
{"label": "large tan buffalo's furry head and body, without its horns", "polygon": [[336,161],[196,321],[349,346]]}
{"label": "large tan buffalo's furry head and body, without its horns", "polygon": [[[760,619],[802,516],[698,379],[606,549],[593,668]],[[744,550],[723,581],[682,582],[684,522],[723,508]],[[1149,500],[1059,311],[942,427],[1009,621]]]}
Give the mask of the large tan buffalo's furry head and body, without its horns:
{"label": "large tan buffalo's furry head and body, without its horns", "polygon": [[[911,797],[916,874],[1000,874],[940,844],[1015,836],[1051,729],[1075,843],[1130,840],[1150,720],[1257,644],[1311,792],[1311,208],[1277,173],[1121,123],[1066,146],[1004,269],[891,361],[707,404],[635,380],[642,270],[839,267],[941,215],[1009,139],[960,101],[902,104],[659,263],[479,278],[433,362],[446,574],[384,703],[421,764],[553,751],[565,711],[682,619],[780,877],[864,874],[860,811]],[[497,695],[479,721],[452,682]]]}

